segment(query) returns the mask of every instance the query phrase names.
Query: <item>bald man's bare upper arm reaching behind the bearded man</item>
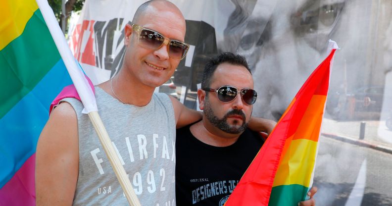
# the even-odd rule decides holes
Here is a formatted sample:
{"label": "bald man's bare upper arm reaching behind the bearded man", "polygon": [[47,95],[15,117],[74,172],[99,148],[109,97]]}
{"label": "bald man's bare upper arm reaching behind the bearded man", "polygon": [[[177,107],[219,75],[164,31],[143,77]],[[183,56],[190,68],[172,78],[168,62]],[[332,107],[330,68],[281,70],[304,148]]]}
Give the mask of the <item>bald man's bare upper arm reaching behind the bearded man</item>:
{"label": "bald man's bare upper arm reaching behind the bearded man", "polygon": [[202,118],[202,112],[186,107],[176,98],[169,96],[173,103],[174,115],[176,117],[176,129],[194,123]]}

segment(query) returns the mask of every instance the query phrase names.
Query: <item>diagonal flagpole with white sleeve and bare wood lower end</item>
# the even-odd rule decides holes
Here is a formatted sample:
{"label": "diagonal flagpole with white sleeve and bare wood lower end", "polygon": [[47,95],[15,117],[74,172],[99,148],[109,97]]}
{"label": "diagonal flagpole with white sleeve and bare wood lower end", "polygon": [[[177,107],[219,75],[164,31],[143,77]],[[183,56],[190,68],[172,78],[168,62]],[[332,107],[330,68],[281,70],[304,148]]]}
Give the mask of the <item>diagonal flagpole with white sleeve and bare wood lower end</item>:
{"label": "diagonal flagpole with white sleeve and bare wood lower end", "polygon": [[56,18],[54,17],[53,11],[50,8],[47,0],[36,0],[37,4],[41,10],[42,15],[44,16],[45,22],[49,28],[50,34],[56,44],[56,47],[61,55],[61,58],[64,61],[65,66],[67,67],[68,73],[71,76],[72,82],[75,85],[76,90],[82,100],[85,108],[83,109],[83,113],[87,113],[91,122],[94,125],[94,128],[98,134],[99,141],[102,144],[103,150],[105,151],[110,164],[114,170],[114,173],[117,176],[118,181],[122,189],[124,190],[125,196],[128,200],[128,203],[131,206],[141,206],[138,197],[135,194],[131,186],[131,182],[122,166],[120,159],[118,158],[113,145],[111,144],[111,140],[105,127],[103,126],[102,120],[98,114],[98,108],[96,99],[93,91],[88,84],[87,79],[85,78],[81,69],[77,64],[74,56],[72,55],[71,50],[68,47],[67,42],[65,41],[64,35],[58,25]]}

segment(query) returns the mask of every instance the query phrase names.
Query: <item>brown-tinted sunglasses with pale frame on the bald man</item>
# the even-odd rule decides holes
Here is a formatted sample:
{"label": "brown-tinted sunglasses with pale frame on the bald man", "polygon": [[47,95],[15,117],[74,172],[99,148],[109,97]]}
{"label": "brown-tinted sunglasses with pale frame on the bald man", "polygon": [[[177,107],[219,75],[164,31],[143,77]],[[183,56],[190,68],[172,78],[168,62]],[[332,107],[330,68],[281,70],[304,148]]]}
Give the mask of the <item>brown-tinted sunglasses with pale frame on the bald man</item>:
{"label": "brown-tinted sunglasses with pale frame on the bald man", "polygon": [[169,46],[167,47],[167,53],[170,57],[181,60],[187,55],[189,45],[184,42],[167,39],[158,32],[137,24],[132,24],[132,29],[139,34],[139,45],[146,49],[158,50],[163,44],[166,44]]}

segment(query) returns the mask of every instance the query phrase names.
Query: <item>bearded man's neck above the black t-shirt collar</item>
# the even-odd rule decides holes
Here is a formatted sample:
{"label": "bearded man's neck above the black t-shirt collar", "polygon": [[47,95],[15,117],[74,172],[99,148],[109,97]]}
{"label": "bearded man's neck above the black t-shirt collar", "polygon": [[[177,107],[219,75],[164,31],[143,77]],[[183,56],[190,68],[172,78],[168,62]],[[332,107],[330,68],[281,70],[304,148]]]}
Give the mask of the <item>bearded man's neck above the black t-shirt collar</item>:
{"label": "bearded man's neck above the black t-shirt collar", "polygon": [[207,145],[215,147],[227,147],[233,145],[240,137],[240,134],[230,134],[218,129],[206,121],[204,117],[203,120],[193,124],[190,127],[190,130],[196,139]]}

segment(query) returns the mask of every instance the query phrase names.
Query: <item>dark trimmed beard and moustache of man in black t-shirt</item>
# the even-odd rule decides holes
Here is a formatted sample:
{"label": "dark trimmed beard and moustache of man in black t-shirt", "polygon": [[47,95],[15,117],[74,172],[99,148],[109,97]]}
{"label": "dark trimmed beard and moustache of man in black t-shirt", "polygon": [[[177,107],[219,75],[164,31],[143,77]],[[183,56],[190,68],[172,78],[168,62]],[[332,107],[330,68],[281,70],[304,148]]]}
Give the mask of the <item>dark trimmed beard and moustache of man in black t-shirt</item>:
{"label": "dark trimmed beard and moustache of man in black t-shirt", "polygon": [[[241,134],[245,131],[247,127],[246,117],[242,110],[234,109],[225,114],[222,119],[219,119],[215,116],[214,112],[211,109],[211,106],[208,101],[205,101],[205,108],[204,108],[205,116],[207,117],[208,121],[211,122],[212,125],[219,128],[220,130],[230,133],[230,134]],[[230,126],[227,123],[227,117],[233,114],[241,115],[243,118],[243,123],[241,126]],[[234,122],[236,123],[237,120]]]}

